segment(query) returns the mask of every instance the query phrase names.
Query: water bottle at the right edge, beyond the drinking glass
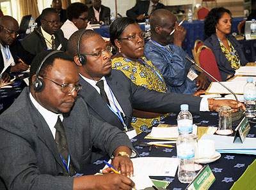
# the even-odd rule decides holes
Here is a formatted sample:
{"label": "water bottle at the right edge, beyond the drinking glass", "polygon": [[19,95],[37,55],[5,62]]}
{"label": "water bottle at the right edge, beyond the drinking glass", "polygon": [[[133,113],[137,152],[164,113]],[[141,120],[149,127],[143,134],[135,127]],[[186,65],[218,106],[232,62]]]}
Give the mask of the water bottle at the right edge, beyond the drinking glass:
{"label": "water bottle at the right edge, beyond the drinking glass", "polygon": [[255,100],[256,88],[253,84],[253,78],[247,78],[247,83],[244,85],[244,105],[246,107],[246,117],[255,117]]}

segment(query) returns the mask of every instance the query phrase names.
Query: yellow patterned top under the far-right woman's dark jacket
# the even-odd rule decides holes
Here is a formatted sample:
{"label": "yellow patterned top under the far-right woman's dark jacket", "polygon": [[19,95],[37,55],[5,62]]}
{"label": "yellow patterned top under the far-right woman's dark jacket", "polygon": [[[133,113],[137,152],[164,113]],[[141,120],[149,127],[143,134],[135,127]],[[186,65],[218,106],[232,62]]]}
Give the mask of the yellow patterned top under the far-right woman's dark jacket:
{"label": "yellow patterned top under the far-right woman's dark jacket", "polygon": [[239,69],[241,67],[240,59],[232,43],[228,40],[228,48],[230,49],[230,51],[225,47],[225,45],[221,41],[220,41],[220,48],[223,54],[225,54],[225,56],[227,57],[228,62],[230,62],[231,67],[233,69]]}

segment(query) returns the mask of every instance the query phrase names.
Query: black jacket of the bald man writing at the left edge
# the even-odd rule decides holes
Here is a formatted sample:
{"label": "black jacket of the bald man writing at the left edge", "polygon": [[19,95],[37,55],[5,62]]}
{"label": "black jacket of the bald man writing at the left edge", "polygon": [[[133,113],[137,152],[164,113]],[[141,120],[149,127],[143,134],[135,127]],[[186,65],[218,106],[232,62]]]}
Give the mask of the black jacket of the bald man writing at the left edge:
{"label": "black jacket of the bald man writing at the left edge", "polygon": [[[27,52],[21,45],[20,41],[15,39],[12,43],[12,45],[10,45],[10,52],[12,54],[13,60],[15,62],[15,64],[17,64],[18,61],[18,57],[20,57],[20,59],[22,59],[22,61],[24,61],[26,64],[31,64],[31,62],[33,61],[35,55],[30,54],[29,52]],[[0,51],[1,54],[1,51]],[[4,68],[4,59],[3,59],[3,55],[0,55],[0,73]],[[6,71],[10,71],[10,68],[7,68]]]}

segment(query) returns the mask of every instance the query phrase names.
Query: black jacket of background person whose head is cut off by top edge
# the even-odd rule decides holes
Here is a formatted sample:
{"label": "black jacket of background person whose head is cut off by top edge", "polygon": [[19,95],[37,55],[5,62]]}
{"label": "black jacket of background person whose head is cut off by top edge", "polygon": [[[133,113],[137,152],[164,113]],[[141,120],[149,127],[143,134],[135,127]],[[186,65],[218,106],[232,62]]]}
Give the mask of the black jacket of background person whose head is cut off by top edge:
{"label": "black jacket of background person whose head is cut off by top edge", "polygon": [[[148,8],[149,8],[150,1],[138,1],[138,3],[135,4],[134,7],[126,11],[127,17],[131,17],[136,19],[139,15],[144,14],[148,15]],[[156,9],[165,8],[164,4],[157,3]],[[144,20],[139,20],[140,22],[145,22]]]}

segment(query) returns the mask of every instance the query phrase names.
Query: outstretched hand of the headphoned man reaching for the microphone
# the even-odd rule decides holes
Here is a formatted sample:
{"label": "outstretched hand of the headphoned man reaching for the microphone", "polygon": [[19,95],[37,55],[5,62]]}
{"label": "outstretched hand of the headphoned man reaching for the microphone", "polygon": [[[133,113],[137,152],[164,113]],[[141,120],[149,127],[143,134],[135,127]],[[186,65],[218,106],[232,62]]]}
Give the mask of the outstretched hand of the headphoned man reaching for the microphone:
{"label": "outstretched hand of the headphoned man reaching for the microphone", "polygon": [[[208,99],[208,103],[209,103],[209,99]],[[242,108],[242,110],[245,110],[245,106],[243,103],[239,102],[237,103],[236,100],[232,100],[232,99],[214,99],[213,101],[213,110],[215,110],[216,112],[219,111],[219,107],[220,106],[230,106],[232,109],[232,112],[238,112],[239,108]]]}

